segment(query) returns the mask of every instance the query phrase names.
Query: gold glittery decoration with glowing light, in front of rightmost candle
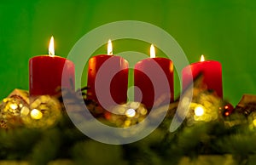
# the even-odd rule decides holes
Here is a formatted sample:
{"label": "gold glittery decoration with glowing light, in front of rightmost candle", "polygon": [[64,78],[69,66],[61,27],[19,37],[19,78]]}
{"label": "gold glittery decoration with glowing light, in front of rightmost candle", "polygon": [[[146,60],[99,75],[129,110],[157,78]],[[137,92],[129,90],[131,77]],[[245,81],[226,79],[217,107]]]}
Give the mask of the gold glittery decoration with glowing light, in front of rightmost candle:
{"label": "gold glittery decoration with glowing light, in front of rightmost candle", "polygon": [[[188,125],[193,125],[194,122],[200,121],[211,122],[222,117],[219,107],[222,105],[223,100],[214,91],[207,90],[205,87],[203,75],[200,74],[195,78],[193,85],[191,84],[189,88],[186,88],[182,97],[178,99],[184,111],[189,108],[186,114],[184,114],[184,111],[177,111],[178,116],[183,117],[185,115]],[[192,97],[192,100],[189,99],[190,97]]]}

